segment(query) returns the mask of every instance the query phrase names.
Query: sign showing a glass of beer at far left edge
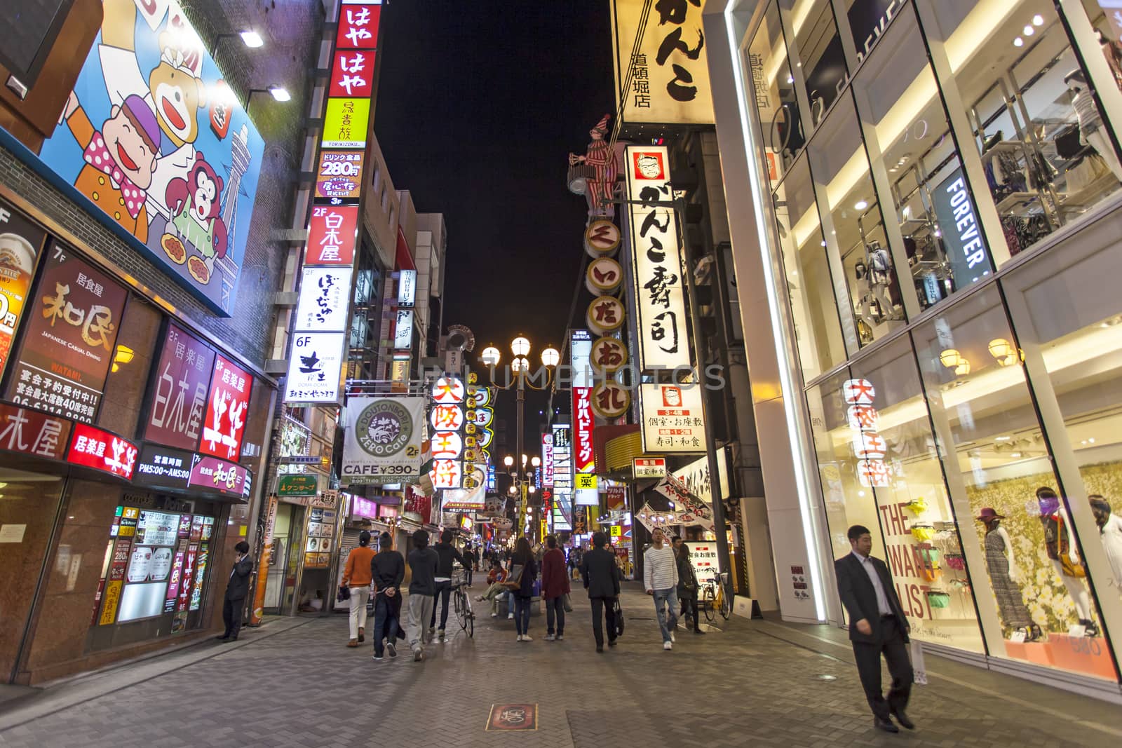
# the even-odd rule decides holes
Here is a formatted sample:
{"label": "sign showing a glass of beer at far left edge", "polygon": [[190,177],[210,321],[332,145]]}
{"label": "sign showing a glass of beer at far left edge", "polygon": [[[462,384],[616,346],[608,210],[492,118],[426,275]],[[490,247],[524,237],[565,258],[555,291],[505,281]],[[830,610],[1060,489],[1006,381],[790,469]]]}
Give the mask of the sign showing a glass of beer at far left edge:
{"label": "sign showing a glass of beer at far left edge", "polygon": [[8,364],[45,238],[45,231],[0,200],[0,376]]}

